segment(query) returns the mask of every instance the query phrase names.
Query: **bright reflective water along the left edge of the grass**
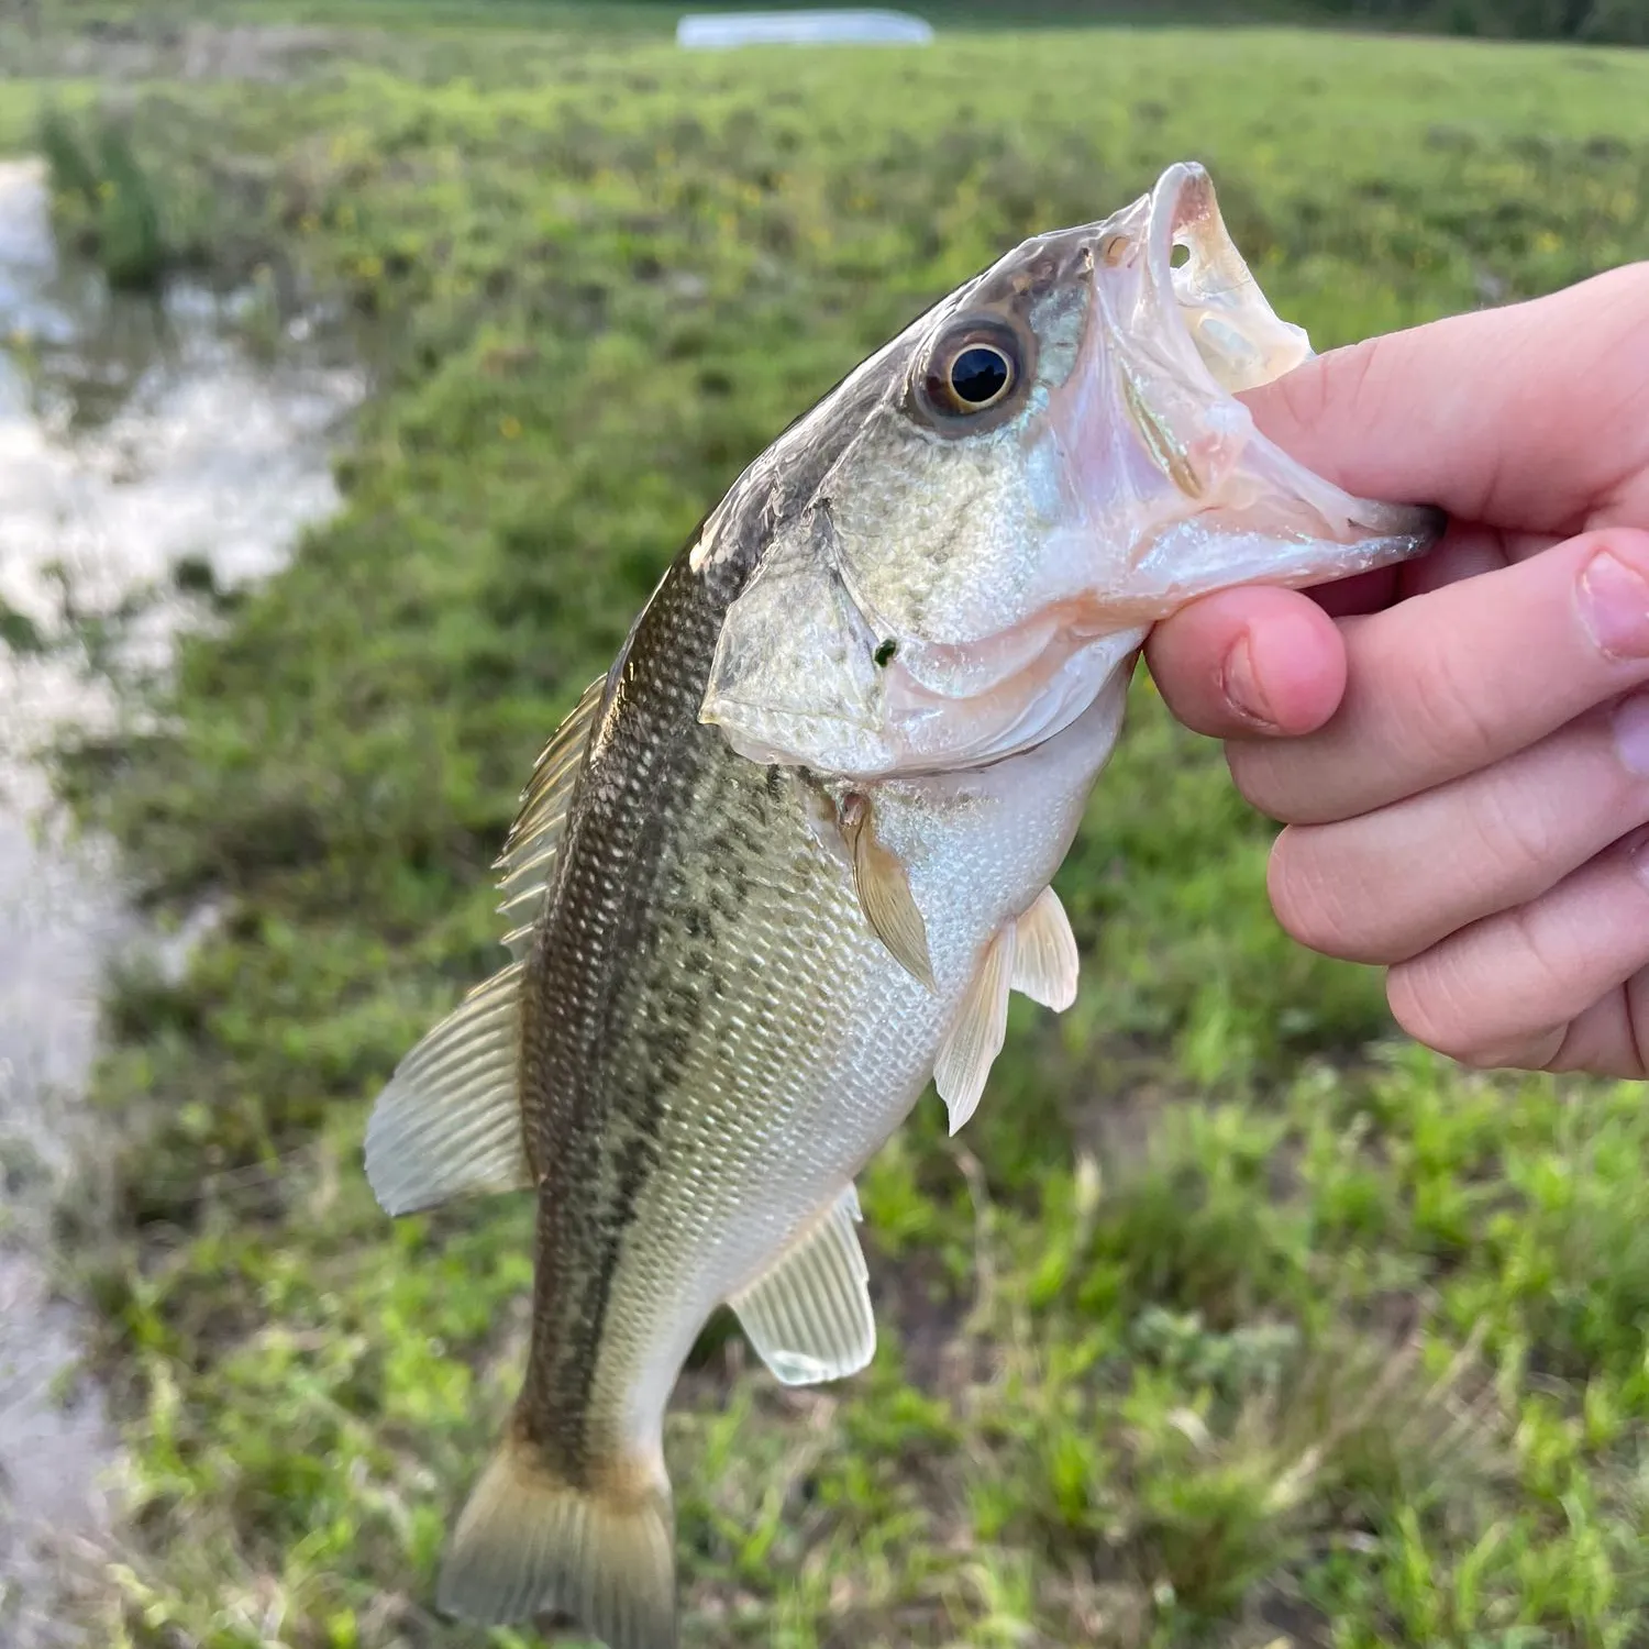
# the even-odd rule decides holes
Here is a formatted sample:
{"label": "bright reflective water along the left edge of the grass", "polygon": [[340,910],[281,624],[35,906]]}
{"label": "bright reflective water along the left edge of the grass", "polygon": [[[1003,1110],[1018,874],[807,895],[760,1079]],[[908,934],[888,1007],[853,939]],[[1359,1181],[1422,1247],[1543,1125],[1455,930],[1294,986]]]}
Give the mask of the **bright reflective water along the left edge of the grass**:
{"label": "bright reflective water along the left edge of the grass", "polygon": [[[71,839],[36,765],[64,724],[107,726],[112,689],[73,650],[36,650],[66,615],[171,587],[267,576],[336,506],[330,453],[364,392],[343,328],[282,320],[272,361],[246,345],[247,297],[176,285],[110,295],[56,256],[41,168],[0,160],[0,1642],[76,1642],[64,1586],[114,1530],[117,1443],[78,1375],[82,1318],[58,1288],[51,1209],[96,1200],[81,1095],[101,980],[153,945],[104,844]],[[267,330],[267,328],[265,328]],[[188,622],[152,600],[129,648],[162,661]],[[7,645],[10,643],[10,645]],[[49,1530],[49,1539],[46,1537]]]}

